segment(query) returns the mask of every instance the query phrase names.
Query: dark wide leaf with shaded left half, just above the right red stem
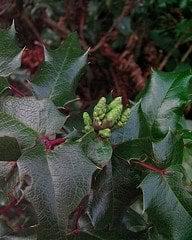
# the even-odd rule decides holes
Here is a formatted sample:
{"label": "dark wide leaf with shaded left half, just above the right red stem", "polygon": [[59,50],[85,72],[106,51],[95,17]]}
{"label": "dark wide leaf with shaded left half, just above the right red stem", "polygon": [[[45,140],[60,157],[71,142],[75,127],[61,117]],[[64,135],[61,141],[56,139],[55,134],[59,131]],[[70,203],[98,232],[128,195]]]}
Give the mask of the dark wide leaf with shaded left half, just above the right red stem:
{"label": "dark wide leaf with shaded left half, just above the right red stem", "polygon": [[167,135],[152,142],[150,138],[139,138],[124,142],[114,149],[114,154],[124,160],[145,160],[166,168],[172,164],[181,164],[183,160],[183,139],[169,130]]}

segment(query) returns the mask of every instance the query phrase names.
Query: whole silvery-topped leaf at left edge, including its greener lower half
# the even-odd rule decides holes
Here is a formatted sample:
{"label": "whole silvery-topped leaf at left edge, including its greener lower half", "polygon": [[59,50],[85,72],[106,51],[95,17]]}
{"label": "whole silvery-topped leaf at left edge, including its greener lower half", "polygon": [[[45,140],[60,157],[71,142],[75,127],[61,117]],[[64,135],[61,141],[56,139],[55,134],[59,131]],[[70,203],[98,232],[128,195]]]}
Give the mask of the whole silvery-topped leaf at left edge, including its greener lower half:
{"label": "whole silvery-topped leaf at left edge, including its greener lower half", "polygon": [[47,99],[2,98],[0,110],[0,132],[4,135],[9,133],[23,147],[33,144],[40,134],[56,133],[66,120]]}

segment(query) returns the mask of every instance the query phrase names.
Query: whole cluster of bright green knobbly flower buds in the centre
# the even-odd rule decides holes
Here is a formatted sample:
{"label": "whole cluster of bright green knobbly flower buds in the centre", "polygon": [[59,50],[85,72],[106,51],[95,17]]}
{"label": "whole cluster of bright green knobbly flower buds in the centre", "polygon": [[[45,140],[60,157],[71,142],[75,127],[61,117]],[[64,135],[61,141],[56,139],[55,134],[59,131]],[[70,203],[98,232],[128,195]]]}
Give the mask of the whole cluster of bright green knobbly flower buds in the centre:
{"label": "whole cluster of bright green knobbly flower buds in the centre", "polygon": [[122,98],[117,97],[107,104],[102,97],[93,110],[93,118],[87,112],[83,113],[85,132],[95,131],[103,138],[111,136],[111,129],[123,127],[130,115],[130,108],[123,109]]}

